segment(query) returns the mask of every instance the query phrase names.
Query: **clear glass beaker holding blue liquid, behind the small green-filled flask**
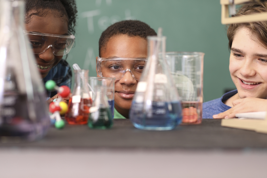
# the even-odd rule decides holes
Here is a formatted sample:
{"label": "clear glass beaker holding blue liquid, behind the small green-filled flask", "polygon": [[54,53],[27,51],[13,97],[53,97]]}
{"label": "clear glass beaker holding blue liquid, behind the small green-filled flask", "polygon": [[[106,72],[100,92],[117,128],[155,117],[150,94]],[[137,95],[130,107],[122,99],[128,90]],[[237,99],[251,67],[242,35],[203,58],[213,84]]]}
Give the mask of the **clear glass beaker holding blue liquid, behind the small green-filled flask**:
{"label": "clear glass beaker holding blue liquid, behind the small green-filled flask", "polygon": [[115,91],[115,78],[110,77],[88,77],[88,84],[90,85],[90,95],[91,98],[95,99],[96,93],[95,90],[99,86],[103,86],[106,88],[105,95],[107,96],[107,100],[109,103],[109,108],[112,113],[112,118],[114,117],[114,91]]}

